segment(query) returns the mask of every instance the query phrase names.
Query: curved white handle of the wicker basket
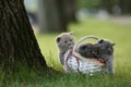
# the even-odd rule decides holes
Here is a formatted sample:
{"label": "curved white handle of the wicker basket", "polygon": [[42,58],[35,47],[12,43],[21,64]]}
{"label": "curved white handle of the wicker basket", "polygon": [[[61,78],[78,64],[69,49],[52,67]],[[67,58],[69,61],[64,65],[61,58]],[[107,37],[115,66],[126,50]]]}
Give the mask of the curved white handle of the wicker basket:
{"label": "curved white handle of the wicker basket", "polygon": [[94,36],[94,35],[90,35],[90,36],[82,37],[82,38],[80,38],[80,40],[76,41],[76,44],[74,45],[74,47],[73,47],[73,52],[78,51],[79,45],[80,45],[83,40],[88,39],[88,38],[93,38],[93,39],[99,40],[99,38],[96,37],[96,36]]}

